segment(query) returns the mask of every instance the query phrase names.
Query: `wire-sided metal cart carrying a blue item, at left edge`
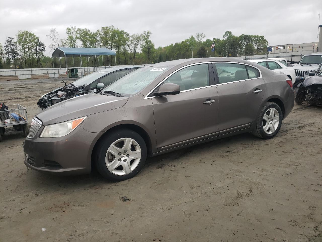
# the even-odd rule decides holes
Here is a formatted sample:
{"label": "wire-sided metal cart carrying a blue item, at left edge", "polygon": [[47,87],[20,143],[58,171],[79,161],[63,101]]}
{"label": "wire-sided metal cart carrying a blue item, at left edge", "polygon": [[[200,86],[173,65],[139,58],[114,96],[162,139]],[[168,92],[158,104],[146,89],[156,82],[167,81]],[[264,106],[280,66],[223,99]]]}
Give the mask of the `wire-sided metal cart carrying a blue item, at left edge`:
{"label": "wire-sided metal cart carrying a blue item, at left edge", "polygon": [[7,105],[8,110],[0,111],[0,142],[5,133],[5,126],[13,126],[15,130],[29,134],[27,109],[19,104]]}

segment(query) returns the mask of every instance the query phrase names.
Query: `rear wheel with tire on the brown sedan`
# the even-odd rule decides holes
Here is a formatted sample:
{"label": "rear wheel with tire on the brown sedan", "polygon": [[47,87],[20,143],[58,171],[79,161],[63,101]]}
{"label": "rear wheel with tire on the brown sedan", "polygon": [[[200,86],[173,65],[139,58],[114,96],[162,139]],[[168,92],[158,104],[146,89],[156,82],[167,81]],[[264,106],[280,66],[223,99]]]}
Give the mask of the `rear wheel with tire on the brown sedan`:
{"label": "rear wheel with tire on the brown sedan", "polygon": [[267,102],[260,109],[252,134],[263,139],[273,138],[279,132],[282,120],[281,108],[276,103]]}

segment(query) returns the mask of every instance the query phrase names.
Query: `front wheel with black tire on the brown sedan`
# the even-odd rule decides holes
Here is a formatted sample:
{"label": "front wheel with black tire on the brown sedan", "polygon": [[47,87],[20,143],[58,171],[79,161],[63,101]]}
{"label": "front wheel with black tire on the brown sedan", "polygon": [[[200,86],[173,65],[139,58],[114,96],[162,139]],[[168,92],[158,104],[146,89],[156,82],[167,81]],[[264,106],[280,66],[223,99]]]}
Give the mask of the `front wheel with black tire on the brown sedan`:
{"label": "front wheel with black tire on the brown sedan", "polygon": [[110,181],[132,178],[147,159],[144,139],[135,131],[120,129],[107,133],[96,149],[98,172]]}

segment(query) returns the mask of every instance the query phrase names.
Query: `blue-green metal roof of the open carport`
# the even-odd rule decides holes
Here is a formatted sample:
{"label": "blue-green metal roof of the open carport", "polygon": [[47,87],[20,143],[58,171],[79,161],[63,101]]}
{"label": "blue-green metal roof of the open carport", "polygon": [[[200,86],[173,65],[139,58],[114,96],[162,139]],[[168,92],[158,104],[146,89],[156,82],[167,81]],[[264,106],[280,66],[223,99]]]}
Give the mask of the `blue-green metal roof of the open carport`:
{"label": "blue-green metal roof of the open carport", "polygon": [[116,55],[116,53],[106,48],[63,48],[58,47],[52,53],[52,57],[63,57],[63,56],[81,56],[81,55]]}

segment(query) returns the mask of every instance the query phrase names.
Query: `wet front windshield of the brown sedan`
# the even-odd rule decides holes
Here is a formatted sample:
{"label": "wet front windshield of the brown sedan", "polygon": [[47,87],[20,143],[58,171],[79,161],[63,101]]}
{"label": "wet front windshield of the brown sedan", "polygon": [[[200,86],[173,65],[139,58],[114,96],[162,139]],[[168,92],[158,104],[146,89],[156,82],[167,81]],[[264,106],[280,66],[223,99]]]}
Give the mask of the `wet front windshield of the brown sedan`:
{"label": "wet front windshield of the brown sedan", "polygon": [[102,92],[113,91],[122,96],[132,96],[149,85],[156,77],[166,72],[170,67],[171,66],[141,67],[111,83],[109,86],[105,87]]}

